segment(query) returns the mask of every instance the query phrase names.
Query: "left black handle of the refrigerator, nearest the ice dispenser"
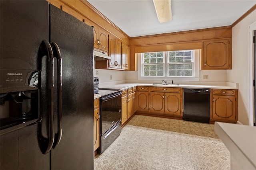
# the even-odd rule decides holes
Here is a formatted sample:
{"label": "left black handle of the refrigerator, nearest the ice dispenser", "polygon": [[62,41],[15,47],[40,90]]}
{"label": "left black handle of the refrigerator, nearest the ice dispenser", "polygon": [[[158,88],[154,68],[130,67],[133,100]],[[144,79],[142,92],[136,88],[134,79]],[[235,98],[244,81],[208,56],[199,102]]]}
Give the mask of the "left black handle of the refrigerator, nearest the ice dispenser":
{"label": "left black handle of the refrigerator, nearest the ice dispenser", "polygon": [[[42,45],[44,45],[44,49],[42,49]],[[48,139],[48,147],[45,151],[43,151],[43,154],[47,154],[51,149],[52,145],[54,143],[54,119],[53,119],[53,52],[52,52],[52,47],[50,43],[47,40],[43,40],[41,45],[41,50],[40,52],[42,53],[42,56],[48,56],[48,81],[49,81],[49,139]]]}

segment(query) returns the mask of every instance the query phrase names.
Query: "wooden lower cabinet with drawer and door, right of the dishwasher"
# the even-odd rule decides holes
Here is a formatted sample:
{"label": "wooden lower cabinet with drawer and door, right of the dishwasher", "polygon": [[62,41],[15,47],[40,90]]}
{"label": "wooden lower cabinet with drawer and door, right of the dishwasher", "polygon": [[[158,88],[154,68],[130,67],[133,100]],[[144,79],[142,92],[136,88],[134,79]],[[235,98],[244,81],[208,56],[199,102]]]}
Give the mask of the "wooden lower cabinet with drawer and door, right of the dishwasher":
{"label": "wooden lower cabinet with drawer and door, right of the dishwasher", "polygon": [[238,90],[212,89],[210,121],[238,121]]}

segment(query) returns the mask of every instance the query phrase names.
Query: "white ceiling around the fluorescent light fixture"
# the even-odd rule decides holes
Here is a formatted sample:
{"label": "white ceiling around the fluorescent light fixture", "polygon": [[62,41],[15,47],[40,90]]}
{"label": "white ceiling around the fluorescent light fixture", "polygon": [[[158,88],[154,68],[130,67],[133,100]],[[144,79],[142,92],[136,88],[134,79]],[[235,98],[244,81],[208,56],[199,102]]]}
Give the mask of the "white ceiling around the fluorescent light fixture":
{"label": "white ceiling around the fluorescent light fixture", "polygon": [[172,0],[172,21],[159,23],[152,0],[87,0],[130,37],[232,25],[256,0]]}

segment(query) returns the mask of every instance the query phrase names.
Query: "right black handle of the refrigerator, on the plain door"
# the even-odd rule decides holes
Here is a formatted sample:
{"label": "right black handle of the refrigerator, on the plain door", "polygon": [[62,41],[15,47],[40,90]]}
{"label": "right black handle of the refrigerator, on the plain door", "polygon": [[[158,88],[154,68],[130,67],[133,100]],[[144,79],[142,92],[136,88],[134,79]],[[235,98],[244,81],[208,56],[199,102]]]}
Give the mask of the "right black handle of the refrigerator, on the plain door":
{"label": "right black handle of the refrigerator, on the plain door", "polygon": [[52,148],[55,148],[60,143],[62,137],[62,57],[58,45],[52,43],[53,56],[57,58],[58,69],[58,133],[55,133],[57,140],[54,141]]}

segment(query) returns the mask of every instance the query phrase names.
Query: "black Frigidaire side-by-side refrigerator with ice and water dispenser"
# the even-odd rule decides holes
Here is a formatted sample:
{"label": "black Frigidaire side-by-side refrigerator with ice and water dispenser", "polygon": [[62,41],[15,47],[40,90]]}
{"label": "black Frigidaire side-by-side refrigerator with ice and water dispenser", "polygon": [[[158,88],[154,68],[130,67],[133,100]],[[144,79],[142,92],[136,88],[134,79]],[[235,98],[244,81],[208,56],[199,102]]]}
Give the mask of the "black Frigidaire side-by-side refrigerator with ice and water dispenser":
{"label": "black Frigidaire side-by-side refrigerator with ice and water dispenser", "polygon": [[0,6],[1,170],[94,169],[93,28],[47,1]]}

